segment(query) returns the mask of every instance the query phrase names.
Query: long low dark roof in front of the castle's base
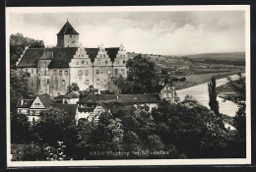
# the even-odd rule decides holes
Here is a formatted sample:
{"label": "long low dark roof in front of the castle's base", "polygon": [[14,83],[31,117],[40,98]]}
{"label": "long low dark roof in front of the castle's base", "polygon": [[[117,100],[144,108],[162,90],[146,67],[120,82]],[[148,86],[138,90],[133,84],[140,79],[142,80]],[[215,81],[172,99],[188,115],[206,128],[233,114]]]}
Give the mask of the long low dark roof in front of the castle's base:
{"label": "long low dark roof in front of the castle's base", "polygon": [[124,103],[159,103],[159,94],[95,94],[78,101],[78,104],[97,104],[107,101],[118,101]]}

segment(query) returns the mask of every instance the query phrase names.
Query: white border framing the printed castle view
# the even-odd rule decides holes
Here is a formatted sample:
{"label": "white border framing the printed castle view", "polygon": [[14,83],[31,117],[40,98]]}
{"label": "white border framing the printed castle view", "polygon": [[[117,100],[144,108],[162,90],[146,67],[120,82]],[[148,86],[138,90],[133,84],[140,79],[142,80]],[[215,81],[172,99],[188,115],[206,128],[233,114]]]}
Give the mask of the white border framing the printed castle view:
{"label": "white border framing the printed castle view", "polygon": [[[74,9],[76,9],[74,11]],[[10,139],[10,44],[11,13],[81,13],[81,12],[174,12],[174,11],[245,11],[246,57],[246,158],[219,159],[136,159],[136,160],[74,160],[74,161],[11,161]],[[123,6],[123,7],[7,7],[6,8],[6,104],[7,104],[7,167],[38,166],[129,166],[129,165],[231,165],[251,163],[251,92],[250,92],[250,6]]]}

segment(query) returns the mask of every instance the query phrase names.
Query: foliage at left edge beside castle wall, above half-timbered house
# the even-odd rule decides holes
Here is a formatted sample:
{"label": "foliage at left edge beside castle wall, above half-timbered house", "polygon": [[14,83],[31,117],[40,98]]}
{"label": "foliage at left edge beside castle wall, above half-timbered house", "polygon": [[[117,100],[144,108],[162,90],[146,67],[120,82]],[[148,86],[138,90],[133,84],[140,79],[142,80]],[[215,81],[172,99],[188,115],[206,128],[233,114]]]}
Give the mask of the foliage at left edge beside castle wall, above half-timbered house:
{"label": "foliage at left edge beside castle wall, above half-timbered house", "polygon": [[28,95],[30,73],[20,70],[11,69],[10,72],[10,99],[11,99],[11,112],[16,112],[16,105],[21,96]]}

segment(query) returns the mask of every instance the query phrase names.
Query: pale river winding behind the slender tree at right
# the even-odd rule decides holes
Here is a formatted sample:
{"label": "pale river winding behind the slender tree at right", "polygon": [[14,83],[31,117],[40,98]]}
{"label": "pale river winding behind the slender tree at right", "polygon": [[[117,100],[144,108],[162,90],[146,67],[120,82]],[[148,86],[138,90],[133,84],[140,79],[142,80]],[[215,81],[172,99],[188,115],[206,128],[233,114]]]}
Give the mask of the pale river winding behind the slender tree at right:
{"label": "pale river winding behind the slender tree at right", "polygon": [[[243,74],[244,76],[244,74]],[[231,80],[237,80],[239,77],[237,75],[230,76]],[[227,83],[226,78],[220,79],[216,81],[217,86],[222,86]],[[208,84],[202,84],[198,86],[191,86],[184,89],[176,90],[177,95],[179,96],[180,100],[182,101],[186,95],[192,95],[199,103],[203,104],[204,106],[210,108],[209,106],[209,94],[208,94]],[[238,107],[235,103],[231,101],[224,101],[223,98],[217,97],[220,106],[220,112],[234,117]]]}

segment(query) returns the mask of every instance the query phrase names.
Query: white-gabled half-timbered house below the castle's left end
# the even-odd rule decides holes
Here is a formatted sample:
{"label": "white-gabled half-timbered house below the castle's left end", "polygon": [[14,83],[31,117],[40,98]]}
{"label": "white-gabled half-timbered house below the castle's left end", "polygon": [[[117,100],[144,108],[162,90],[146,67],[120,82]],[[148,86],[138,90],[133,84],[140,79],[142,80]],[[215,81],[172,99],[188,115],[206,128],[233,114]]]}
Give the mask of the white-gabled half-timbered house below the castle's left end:
{"label": "white-gabled half-timbered house below the castle's left end", "polygon": [[37,94],[32,99],[21,98],[17,104],[17,112],[27,114],[29,121],[36,121],[39,118],[39,113],[42,110],[50,107],[52,100],[47,93]]}

